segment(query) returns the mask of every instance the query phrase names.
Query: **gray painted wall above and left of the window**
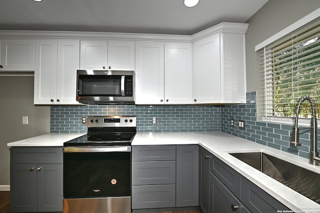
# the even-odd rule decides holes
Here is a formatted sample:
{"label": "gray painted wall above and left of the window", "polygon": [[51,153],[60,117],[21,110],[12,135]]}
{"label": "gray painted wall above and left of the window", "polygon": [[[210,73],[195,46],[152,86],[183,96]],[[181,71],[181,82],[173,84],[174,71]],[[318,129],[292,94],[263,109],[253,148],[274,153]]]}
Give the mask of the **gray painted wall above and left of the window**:
{"label": "gray painted wall above and left of the window", "polygon": [[[320,0],[269,0],[246,21],[246,88],[259,91],[255,45],[320,7]],[[259,92],[257,92],[259,99]]]}

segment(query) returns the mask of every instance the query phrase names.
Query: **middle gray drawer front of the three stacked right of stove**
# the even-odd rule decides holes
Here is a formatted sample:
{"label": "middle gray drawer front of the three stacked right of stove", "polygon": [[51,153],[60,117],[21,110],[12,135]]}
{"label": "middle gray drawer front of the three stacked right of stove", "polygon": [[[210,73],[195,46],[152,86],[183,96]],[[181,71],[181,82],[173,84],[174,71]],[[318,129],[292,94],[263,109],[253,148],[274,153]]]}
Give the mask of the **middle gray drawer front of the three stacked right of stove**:
{"label": "middle gray drawer front of the three stacked right of stove", "polygon": [[132,162],[132,185],[175,183],[175,161]]}

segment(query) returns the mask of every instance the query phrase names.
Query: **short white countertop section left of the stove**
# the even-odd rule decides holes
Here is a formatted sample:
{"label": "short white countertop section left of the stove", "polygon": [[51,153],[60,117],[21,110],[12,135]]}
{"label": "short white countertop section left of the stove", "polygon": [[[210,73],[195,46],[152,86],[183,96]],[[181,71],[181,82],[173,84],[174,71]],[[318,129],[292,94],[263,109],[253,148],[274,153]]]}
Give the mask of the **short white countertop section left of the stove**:
{"label": "short white countertop section left of the stove", "polygon": [[77,138],[79,136],[84,135],[81,134],[59,134],[59,133],[51,133],[51,134],[42,134],[35,137],[30,137],[23,140],[17,140],[14,142],[7,143],[7,146],[63,146],[63,143]]}

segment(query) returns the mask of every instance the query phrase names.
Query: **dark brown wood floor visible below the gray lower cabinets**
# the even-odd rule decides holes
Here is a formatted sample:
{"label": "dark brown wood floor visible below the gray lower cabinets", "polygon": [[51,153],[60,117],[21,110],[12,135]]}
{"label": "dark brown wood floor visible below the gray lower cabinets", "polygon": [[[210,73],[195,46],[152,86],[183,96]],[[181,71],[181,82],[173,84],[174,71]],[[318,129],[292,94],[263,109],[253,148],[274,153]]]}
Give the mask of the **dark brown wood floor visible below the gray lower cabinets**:
{"label": "dark brown wood floor visible below the gray lower cabinets", "polygon": [[[10,191],[0,191],[0,213],[10,213]],[[201,213],[198,208],[134,210],[133,213]]]}

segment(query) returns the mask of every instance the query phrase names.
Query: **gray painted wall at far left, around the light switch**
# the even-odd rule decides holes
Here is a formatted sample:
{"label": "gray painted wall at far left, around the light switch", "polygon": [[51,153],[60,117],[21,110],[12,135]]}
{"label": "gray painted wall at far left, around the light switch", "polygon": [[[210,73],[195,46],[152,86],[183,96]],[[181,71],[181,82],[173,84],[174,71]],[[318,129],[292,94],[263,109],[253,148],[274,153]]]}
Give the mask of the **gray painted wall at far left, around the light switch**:
{"label": "gray painted wall at far left, around the light switch", "polygon": [[[50,107],[34,106],[32,76],[0,76],[0,185],[9,185],[8,142],[49,133]],[[28,116],[28,125],[22,125]]]}

